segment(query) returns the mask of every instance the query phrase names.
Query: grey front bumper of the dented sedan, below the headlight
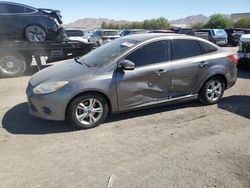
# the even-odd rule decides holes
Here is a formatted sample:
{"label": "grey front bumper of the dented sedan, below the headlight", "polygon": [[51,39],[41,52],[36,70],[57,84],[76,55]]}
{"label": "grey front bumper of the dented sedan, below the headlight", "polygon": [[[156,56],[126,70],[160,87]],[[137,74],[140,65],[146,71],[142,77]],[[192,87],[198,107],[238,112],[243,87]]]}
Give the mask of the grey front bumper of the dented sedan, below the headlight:
{"label": "grey front bumper of the dented sedan, below the headlight", "polygon": [[61,92],[37,95],[34,94],[33,89],[34,87],[32,87],[31,84],[29,84],[26,89],[31,115],[47,120],[65,120],[65,101],[67,101],[67,99],[61,95]]}

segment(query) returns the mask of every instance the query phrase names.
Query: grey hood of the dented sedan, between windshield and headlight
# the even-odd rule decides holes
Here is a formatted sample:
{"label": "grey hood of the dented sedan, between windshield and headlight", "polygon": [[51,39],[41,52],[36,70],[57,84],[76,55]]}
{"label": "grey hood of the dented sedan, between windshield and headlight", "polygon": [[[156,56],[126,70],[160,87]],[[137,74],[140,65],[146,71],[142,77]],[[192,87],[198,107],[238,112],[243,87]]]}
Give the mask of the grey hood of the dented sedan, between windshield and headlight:
{"label": "grey hood of the dented sedan, between windshield and headlight", "polygon": [[93,77],[97,67],[87,67],[80,65],[74,60],[56,64],[45,68],[32,76],[30,84],[33,87],[41,83],[57,81],[75,81],[78,79],[87,79]]}

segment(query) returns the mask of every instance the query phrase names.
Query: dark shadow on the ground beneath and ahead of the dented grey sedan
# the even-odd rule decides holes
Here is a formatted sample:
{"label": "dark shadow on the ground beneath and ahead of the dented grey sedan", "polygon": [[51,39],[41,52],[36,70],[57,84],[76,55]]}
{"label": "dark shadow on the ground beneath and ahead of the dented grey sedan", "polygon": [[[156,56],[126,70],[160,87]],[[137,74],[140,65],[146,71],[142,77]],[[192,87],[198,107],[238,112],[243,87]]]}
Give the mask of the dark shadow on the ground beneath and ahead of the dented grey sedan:
{"label": "dark shadow on the ground beneath and ahead of the dented grey sedan", "polygon": [[[198,107],[200,105],[201,104],[198,101],[190,101],[182,104],[177,103],[175,105],[166,105],[150,109],[137,110],[133,112],[114,114],[109,116],[104,124],[141,116],[148,116],[181,108]],[[68,121],[48,121],[29,115],[27,103],[21,103],[7,111],[3,117],[2,126],[11,134],[24,135],[43,135],[79,131],[79,129],[70,125]]]}

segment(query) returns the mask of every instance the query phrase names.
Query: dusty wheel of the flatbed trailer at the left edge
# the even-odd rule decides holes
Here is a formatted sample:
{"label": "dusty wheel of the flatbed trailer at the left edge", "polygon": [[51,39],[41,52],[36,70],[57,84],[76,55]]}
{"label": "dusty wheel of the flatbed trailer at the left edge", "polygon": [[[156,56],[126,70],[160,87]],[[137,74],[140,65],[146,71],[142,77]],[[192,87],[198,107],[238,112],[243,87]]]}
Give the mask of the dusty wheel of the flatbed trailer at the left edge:
{"label": "dusty wheel of the flatbed trailer at the left edge", "polygon": [[23,75],[26,70],[24,58],[19,54],[0,55],[0,77],[12,78]]}

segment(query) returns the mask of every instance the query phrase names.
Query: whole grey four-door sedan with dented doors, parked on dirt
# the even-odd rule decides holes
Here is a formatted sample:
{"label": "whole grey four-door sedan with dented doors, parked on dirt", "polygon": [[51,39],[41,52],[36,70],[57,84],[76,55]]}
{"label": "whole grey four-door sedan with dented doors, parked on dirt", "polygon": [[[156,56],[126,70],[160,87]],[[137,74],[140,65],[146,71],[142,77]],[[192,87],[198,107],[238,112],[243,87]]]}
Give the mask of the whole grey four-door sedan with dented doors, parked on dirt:
{"label": "whole grey four-door sedan with dented doors, parked on dirt", "polygon": [[201,38],[139,34],[114,40],[80,59],[35,74],[27,87],[30,113],[80,128],[108,114],[177,100],[211,105],[237,79],[237,59]]}

